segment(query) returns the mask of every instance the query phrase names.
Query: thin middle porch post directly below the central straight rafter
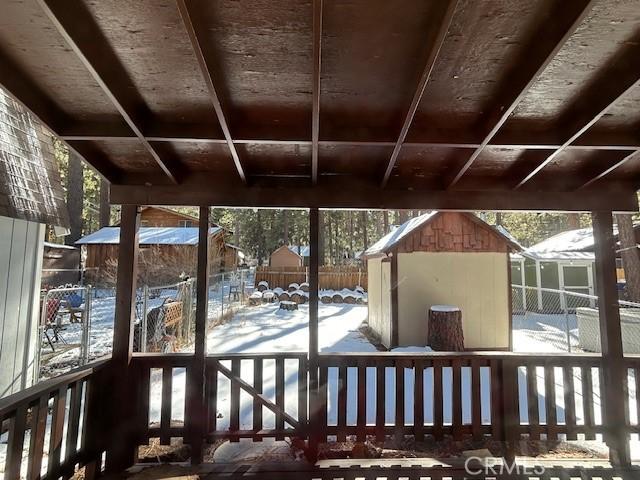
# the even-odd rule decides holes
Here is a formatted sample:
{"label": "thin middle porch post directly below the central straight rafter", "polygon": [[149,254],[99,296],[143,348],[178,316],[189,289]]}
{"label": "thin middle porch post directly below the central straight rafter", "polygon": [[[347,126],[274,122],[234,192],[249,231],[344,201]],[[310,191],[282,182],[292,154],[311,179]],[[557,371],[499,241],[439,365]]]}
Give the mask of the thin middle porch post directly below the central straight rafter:
{"label": "thin middle porch post directly below the central straight rafter", "polygon": [[318,265],[319,265],[319,212],[309,210],[309,457],[318,456],[318,419],[320,397],[318,393]]}

